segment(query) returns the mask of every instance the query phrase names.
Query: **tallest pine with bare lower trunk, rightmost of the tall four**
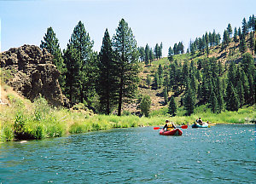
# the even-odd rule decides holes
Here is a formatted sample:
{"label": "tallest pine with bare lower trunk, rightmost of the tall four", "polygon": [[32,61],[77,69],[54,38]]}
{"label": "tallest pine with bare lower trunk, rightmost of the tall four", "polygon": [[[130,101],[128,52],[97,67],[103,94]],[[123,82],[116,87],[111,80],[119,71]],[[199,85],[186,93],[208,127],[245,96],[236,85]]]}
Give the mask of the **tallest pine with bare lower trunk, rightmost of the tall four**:
{"label": "tallest pine with bare lower trunk, rightmost of the tall four", "polygon": [[116,71],[119,72],[119,83],[116,88],[119,91],[118,115],[121,116],[122,104],[135,95],[138,81],[137,42],[124,19],[119,21],[116,34],[113,36],[113,51]]}

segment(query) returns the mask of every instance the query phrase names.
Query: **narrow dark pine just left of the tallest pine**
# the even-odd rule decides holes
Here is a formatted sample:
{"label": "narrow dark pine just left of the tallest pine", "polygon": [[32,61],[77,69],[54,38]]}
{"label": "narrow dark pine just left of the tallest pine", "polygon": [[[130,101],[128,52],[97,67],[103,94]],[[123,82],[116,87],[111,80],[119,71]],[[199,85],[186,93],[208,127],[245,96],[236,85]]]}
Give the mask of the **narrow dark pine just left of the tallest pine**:
{"label": "narrow dark pine just left of the tallest pine", "polygon": [[115,86],[115,65],[113,62],[113,49],[108,29],[104,33],[102,40],[102,48],[98,55],[98,78],[97,78],[97,94],[99,95],[101,112],[109,114],[115,105],[116,90]]}

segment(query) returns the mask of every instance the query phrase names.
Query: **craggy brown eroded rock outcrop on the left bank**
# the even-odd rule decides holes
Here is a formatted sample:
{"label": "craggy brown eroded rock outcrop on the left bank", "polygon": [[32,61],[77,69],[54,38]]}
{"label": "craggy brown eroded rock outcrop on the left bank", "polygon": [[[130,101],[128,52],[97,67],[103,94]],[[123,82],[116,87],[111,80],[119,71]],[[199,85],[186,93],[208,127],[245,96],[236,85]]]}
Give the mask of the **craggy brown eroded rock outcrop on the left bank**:
{"label": "craggy brown eroded rock outcrop on the left bank", "polygon": [[35,45],[23,45],[0,54],[0,66],[9,70],[8,84],[33,101],[40,94],[54,106],[63,105],[58,77],[60,72],[52,64],[53,56],[46,49]]}

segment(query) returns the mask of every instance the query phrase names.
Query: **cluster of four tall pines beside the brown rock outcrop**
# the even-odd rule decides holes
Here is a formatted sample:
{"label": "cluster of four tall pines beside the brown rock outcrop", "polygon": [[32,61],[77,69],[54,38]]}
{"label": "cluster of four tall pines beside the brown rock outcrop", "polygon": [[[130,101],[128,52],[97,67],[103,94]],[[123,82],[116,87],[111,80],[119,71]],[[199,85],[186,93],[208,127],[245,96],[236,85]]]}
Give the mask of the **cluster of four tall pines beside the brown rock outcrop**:
{"label": "cluster of four tall pines beside the brown rock outcrop", "polygon": [[63,53],[52,27],[40,47],[54,56],[53,64],[61,72],[61,89],[71,103],[84,103],[106,114],[118,106],[120,116],[122,104],[131,101],[137,90],[137,42],[122,19],[112,38],[106,29],[99,53],[92,49],[93,44],[79,21]]}

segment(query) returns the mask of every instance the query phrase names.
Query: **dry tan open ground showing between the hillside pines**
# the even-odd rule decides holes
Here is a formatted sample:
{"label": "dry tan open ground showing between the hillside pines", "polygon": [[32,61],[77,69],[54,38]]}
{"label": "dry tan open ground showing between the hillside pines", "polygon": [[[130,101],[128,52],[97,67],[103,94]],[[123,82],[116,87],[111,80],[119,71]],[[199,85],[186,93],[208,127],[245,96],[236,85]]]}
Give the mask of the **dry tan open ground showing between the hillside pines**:
{"label": "dry tan open ground showing between the hillside pines", "polygon": [[[249,34],[248,34],[249,35]],[[246,43],[249,44],[249,36],[246,37]],[[247,53],[250,53],[250,50],[247,49]],[[214,46],[209,49],[209,55],[207,53],[196,51],[195,55],[189,54],[181,54],[181,55],[173,55],[173,60],[177,60],[179,63],[183,63],[185,60],[191,63],[193,60],[195,66],[197,66],[198,60],[204,60],[207,58],[216,58],[217,63],[220,62],[224,66],[224,75],[227,75],[227,67],[230,65],[230,61],[234,61],[236,64],[241,62],[241,52],[239,50],[239,43],[235,43],[234,40],[230,42],[226,47],[223,47],[222,44]],[[253,55],[253,60],[256,60],[256,56]],[[139,103],[140,99],[143,95],[149,95],[151,98],[151,107],[150,111],[154,112],[156,110],[160,110],[164,107],[167,107],[165,103],[165,98],[163,94],[164,88],[156,89],[154,87],[154,73],[157,72],[158,67],[161,65],[163,67],[164,72],[168,72],[168,68],[170,66],[170,61],[167,58],[161,58],[160,60],[153,60],[150,65],[146,66],[144,62],[140,63],[141,72],[139,73],[140,83],[138,88],[137,99],[132,104],[126,104],[123,107],[123,110],[130,113],[139,114]],[[150,76],[151,83],[147,84],[147,76]],[[168,97],[170,98],[174,94],[173,91],[168,93]],[[177,95],[176,101],[177,105],[180,106],[181,98],[183,97],[183,92]]]}

